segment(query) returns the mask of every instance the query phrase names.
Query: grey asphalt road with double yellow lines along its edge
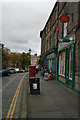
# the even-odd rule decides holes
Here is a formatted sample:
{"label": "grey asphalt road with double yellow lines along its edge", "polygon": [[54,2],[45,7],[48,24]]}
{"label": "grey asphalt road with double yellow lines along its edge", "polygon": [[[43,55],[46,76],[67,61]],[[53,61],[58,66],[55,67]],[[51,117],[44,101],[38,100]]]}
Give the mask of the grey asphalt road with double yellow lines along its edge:
{"label": "grey asphalt road with double yellow lines along its edge", "polygon": [[2,118],[18,118],[23,83],[28,73],[16,73],[2,78]]}

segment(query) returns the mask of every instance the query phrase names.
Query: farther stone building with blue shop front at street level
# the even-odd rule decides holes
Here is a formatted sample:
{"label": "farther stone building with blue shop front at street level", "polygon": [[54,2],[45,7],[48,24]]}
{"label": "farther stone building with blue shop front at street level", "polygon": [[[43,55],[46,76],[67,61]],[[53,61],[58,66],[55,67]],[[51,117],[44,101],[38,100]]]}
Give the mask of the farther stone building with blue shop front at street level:
{"label": "farther stone building with blue shop front at street level", "polygon": [[58,38],[58,2],[56,2],[51,15],[40,33],[41,56],[45,58],[45,63],[49,70],[52,70],[55,77],[57,74],[57,38]]}

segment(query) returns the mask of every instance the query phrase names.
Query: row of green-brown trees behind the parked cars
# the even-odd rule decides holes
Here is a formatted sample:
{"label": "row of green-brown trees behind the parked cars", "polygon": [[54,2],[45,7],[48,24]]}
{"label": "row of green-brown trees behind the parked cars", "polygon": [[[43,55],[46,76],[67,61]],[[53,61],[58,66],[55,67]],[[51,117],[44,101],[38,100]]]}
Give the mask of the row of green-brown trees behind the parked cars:
{"label": "row of green-brown trees behind the parked cars", "polygon": [[23,52],[16,53],[16,52],[10,52],[10,49],[5,48],[4,45],[2,45],[2,68],[23,68],[25,69],[30,64],[30,54]]}

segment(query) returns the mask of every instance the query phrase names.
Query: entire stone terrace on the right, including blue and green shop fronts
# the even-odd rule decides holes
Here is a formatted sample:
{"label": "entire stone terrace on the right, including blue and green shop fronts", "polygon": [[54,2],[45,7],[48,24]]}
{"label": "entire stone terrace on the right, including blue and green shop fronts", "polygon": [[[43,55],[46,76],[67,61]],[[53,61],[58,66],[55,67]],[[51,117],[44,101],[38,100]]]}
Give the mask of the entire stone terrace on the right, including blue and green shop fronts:
{"label": "entire stone terrace on the right, including blue and green shop fronts", "polygon": [[[40,32],[41,56],[56,78],[80,92],[80,2],[56,2]],[[68,22],[61,22],[62,15]]]}

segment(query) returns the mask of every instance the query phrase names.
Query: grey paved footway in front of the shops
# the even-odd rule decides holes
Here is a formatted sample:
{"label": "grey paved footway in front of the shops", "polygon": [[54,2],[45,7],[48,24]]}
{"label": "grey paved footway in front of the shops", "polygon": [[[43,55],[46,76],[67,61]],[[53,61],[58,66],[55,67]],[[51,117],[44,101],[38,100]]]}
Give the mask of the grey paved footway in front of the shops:
{"label": "grey paved footway in front of the shops", "polygon": [[27,79],[27,118],[78,118],[78,94],[57,80],[40,78],[40,94],[30,94]]}

